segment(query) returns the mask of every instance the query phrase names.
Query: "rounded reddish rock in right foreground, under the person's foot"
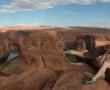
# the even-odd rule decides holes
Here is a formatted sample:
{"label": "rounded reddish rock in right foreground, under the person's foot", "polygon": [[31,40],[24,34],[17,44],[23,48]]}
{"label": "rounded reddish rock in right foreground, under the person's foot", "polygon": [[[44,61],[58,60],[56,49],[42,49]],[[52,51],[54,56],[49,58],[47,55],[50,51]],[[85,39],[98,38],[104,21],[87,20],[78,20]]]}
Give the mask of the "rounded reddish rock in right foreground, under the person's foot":
{"label": "rounded reddish rock in right foreground, under the person's foot", "polygon": [[109,84],[104,80],[98,80],[95,84],[85,85],[83,81],[92,77],[93,71],[87,65],[72,65],[71,69],[63,74],[52,90],[109,90]]}

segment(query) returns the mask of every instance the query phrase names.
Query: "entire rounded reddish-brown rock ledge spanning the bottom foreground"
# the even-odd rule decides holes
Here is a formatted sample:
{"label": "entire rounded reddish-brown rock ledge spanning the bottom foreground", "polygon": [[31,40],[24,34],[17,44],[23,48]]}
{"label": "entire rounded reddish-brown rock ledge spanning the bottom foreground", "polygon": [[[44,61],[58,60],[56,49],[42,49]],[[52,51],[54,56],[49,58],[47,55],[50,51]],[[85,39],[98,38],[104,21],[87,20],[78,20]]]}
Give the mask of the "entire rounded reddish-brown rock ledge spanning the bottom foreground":
{"label": "entire rounded reddish-brown rock ledge spanning the bottom foreground", "polygon": [[105,80],[93,85],[82,82],[92,71],[84,64],[70,65],[68,70],[55,71],[49,68],[31,68],[18,75],[0,77],[0,90],[109,90]]}

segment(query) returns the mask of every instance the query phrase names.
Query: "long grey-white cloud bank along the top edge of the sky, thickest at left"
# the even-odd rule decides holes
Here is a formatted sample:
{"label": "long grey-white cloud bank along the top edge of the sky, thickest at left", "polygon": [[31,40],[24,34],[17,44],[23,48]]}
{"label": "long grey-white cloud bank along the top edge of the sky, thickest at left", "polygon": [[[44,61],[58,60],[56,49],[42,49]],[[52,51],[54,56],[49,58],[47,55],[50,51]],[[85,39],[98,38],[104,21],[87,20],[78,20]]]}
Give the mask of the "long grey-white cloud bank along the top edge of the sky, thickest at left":
{"label": "long grey-white cloud bank along the top edge of the sky, thickest at left", "polygon": [[110,0],[11,0],[7,5],[0,5],[0,13],[17,11],[33,11],[48,9],[63,4],[92,4],[96,2],[110,3]]}

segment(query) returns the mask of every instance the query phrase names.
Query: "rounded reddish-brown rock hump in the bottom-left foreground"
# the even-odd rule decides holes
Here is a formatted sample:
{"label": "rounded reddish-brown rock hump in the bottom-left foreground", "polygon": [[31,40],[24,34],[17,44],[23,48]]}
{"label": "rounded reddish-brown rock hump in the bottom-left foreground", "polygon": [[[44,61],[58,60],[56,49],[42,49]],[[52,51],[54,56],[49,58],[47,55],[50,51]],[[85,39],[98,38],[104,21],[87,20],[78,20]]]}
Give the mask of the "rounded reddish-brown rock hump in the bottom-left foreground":
{"label": "rounded reddish-brown rock hump in the bottom-left foreground", "polygon": [[0,90],[51,90],[56,80],[52,69],[31,68],[19,75],[0,77]]}

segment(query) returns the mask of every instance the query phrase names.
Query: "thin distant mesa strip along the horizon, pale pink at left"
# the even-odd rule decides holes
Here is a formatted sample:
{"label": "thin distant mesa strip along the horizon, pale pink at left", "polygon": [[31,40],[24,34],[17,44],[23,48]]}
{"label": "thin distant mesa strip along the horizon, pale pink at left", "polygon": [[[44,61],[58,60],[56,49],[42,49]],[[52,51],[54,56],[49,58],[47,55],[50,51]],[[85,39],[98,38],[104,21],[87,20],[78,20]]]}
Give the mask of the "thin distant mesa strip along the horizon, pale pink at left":
{"label": "thin distant mesa strip along the horizon, pale pink at left", "polygon": [[43,29],[55,29],[55,30],[77,30],[77,31],[101,31],[105,32],[110,31],[108,28],[98,28],[98,27],[81,27],[81,26],[45,26],[45,25],[39,25],[39,24],[18,24],[18,25],[11,25],[11,26],[0,26],[0,32],[6,32],[6,31],[18,31],[18,30],[43,30]]}

